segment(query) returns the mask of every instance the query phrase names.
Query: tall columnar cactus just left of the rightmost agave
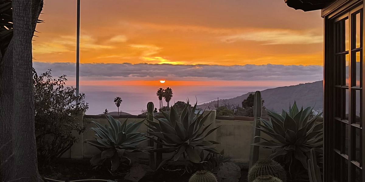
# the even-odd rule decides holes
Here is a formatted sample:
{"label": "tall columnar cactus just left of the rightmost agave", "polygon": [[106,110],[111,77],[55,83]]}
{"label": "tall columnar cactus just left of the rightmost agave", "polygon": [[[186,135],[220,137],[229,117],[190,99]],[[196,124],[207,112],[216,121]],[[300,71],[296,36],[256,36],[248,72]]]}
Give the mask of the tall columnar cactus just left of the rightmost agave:
{"label": "tall columnar cactus just left of the rightmost agave", "polygon": [[[256,128],[260,125],[260,119],[262,114],[262,98],[261,98],[261,92],[256,91],[254,100],[253,100],[253,132],[252,132],[252,143],[258,143],[260,142],[260,138],[257,136],[260,136],[260,130],[257,130]],[[259,153],[259,146],[253,146],[251,145],[250,149],[250,161],[249,161],[249,169],[252,167],[254,163],[258,160],[258,153]]]}

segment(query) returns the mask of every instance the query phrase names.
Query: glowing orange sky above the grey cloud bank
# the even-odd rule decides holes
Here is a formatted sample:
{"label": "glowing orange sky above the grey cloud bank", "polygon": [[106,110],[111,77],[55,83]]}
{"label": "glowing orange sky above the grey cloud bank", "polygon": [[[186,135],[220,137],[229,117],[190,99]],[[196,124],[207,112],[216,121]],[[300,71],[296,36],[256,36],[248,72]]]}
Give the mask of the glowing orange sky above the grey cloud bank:
{"label": "glowing orange sky above the grey cloud bank", "polygon": [[[75,62],[76,0],[45,1],[36,62]],[[322,65],[320,12],[283,0],[81,0],[81,63]]]}

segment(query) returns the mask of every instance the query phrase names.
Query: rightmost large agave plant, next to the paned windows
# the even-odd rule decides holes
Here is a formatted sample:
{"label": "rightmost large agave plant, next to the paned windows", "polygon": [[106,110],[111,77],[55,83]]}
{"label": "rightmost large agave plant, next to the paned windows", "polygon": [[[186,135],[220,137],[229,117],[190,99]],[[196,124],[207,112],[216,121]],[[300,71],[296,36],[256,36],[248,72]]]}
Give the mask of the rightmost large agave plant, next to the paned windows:
{"label": "rightmost large agave plant, next to the paned windows", "polygon": [[294,156],[307,169],[306,153],[312,148],[320,150],[323,145],[323,123],[316,122],[322,112],[314,115],[312,109],[313,107],[307,107],[303,110],[302,107],[299,110],[294,102],[293,106],[289,107],[289,112],[283,110],[281,115],[268,111],[269,120],[261,118],[262,123],[258,124],[257,129],[274,140],[257,136],[265,141],[252,145],[274,149],[275,152],[269,158]]}

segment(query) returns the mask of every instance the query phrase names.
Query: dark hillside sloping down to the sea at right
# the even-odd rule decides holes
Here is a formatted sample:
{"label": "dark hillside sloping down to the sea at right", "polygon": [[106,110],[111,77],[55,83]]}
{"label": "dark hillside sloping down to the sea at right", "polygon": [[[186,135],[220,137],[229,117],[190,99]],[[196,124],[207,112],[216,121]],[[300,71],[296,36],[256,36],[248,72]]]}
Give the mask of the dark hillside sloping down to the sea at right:
{"label": "dark hillside sloping down to the sea at right", "polygon": [[[231,104],[239,104],[249,96],[247,94],[231,98],[219,100],[219,106],[223,106],[224,102]],[[262,99],[265,100],[264,106],[272,111],[280,112],[282,109],[288,110],[289,103],[296,101],[298,107],[315,106],[314,109],[323,108],[323,81],[305,83],[287,87],[270,88],[261,91]],[[217,101],[200,105],[199,108],[206,108],[208,105],[214,106]]]}

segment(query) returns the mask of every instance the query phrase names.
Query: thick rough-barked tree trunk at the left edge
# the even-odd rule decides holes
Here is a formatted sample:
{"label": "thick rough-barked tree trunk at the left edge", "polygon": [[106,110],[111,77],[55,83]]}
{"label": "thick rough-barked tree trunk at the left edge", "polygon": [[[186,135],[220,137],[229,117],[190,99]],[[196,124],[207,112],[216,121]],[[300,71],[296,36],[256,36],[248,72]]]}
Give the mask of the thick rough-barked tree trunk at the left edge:
{"label": "thick rough-barked tree trunk at the left edge", "polygon": [[[14,35],[0,60],[0,181],[42,181],[37,166],[32,36],[43,0],[13,0]],[[8,162],[5,161],[8,159]]]}

